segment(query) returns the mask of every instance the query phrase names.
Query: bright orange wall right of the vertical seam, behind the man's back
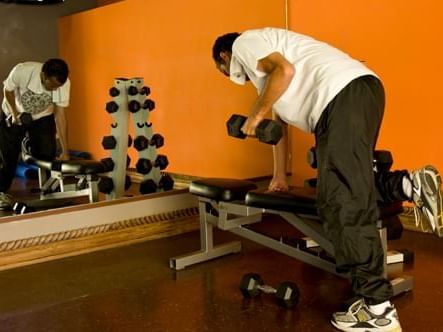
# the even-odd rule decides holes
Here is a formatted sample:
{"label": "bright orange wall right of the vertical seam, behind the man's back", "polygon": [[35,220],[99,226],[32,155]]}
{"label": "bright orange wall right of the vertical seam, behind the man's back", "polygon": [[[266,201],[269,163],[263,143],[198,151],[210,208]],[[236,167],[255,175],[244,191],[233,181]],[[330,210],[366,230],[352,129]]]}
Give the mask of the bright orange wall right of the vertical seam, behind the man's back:
{"label": "bright orange wall right of the vertical seam, behind the man's back", "polygon": [[[289,12],[291,30],[366,61],[382,78],[387,105],[378,148],[392,151],[394,167],[431,163],[443,171],[443,2],[289,0]],[[313,174],[304,162],[312,142],[293,131],[296,181]]]}

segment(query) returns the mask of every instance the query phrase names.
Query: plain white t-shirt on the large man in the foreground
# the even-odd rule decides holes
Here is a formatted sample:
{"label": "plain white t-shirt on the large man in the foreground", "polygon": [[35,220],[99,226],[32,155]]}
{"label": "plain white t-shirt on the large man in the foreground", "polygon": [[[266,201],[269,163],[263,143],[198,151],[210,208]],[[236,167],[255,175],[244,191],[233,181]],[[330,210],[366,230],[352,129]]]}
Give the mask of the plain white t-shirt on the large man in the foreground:
{"label": "plain white t-shirt on the large man in the foreground", "polygon": [[323,110],[349,82],[364,75],[376,76],[361,62],[324,42],[265,28],[245,31],[235,40],[231,80],[244,84],[247,75],[260,94],[267,74],[257,70],[257,62],[274,52],[294,65],[295,75],[273,110],[283,121],[306,132],[314,132]]}

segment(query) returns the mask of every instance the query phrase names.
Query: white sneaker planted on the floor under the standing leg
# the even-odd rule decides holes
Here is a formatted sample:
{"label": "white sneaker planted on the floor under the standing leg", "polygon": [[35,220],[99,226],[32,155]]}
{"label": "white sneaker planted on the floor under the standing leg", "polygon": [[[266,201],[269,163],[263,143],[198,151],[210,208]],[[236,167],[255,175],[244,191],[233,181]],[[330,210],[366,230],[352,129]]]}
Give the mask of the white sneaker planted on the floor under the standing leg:
{"label": "white sneaker planted on the floor under the standing leg", "polygon": [[331,323],[340,331],[401,332],[400,321],[394,306],[389,306],[383,314],[376,315],[371,312],[363,299],[351,304],[346,312],[334,313]]}

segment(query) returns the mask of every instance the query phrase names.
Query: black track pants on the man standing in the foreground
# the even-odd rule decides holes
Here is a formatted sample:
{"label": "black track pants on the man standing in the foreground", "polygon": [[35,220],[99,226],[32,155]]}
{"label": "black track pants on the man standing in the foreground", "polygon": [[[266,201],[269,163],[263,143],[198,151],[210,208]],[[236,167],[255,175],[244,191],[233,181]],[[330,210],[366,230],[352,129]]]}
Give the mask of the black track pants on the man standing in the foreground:
{"label": "black track pants on the man standing in the foreground", "polygon": [[[372,167],[384,100],[383,86],[376,77],[357,78],[329,103],[315,130],[319,215],[334,245],[337,271],[351,274],[355,295],[369,304],[393,295],[383,276]],[[381,196],[404,200],[399,187],[404,173],[391,175],[394,179],[381,188]]]}

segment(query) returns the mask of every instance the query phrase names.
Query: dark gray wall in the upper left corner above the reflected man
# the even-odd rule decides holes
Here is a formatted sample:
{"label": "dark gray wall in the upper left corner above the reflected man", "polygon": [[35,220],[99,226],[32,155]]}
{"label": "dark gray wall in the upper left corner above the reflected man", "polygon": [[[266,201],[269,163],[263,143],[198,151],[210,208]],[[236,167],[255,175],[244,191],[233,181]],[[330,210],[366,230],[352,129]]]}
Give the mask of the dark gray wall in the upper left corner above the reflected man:
{"label": "dark gray wall in the upper left corner above the reflected man", "polygon": [[[97,0],[66,0],[58,5],[0,2],[0,83],[17,63],[58,56],[58,18],[92,9]],[[0,100],[3,92],[0,93]]]}

